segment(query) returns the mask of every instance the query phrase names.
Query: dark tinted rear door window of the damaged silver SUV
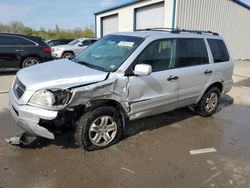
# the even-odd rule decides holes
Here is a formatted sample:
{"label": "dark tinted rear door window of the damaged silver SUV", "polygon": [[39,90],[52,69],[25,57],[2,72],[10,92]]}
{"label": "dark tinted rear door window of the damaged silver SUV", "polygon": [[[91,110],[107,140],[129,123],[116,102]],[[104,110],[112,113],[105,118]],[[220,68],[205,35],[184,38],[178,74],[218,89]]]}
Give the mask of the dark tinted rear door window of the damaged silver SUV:
{"label": "dark tinted rear door window of the damaged silver SUV", "polygon": [[207,48],[203,39],[179,39],[178,67],[188,67],[209,63]]}

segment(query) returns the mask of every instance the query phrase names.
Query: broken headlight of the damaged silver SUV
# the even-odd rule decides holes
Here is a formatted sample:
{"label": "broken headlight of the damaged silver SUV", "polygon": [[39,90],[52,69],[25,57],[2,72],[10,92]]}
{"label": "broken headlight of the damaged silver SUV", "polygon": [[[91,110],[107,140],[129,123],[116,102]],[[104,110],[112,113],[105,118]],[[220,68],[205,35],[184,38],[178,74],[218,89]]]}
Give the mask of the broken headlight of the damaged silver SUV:
{"label": "broken headlight of the damaged silver SUV", "polygon": [[32,95],[29,104],[47,109],[62,109],[70,96],[71,94],[66,90],[38,90]]}

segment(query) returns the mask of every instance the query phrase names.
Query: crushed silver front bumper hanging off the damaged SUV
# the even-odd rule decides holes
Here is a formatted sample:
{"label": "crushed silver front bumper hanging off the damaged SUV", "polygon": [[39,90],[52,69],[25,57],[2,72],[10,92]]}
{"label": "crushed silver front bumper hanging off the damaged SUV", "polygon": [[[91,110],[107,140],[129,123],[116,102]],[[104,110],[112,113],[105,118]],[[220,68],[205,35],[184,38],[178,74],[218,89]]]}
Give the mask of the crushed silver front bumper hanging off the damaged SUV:
{"label": "crushed silver front bumper hanging off the damaged SUV", "polygon": [[39,125],[40,119],[53,120],[57,117],[57,111],[45,110],[29,105],[19,105],[14,100],[14,93],[10,90],[9,109],[17,125],[30,134],[54,139],[54,134]]}

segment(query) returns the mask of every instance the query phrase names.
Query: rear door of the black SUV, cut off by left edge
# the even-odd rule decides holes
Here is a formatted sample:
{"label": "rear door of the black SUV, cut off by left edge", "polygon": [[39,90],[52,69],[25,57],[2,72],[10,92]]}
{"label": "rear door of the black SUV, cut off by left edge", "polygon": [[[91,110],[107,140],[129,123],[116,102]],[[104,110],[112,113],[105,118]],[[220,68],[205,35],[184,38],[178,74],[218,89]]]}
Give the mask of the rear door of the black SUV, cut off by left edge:
{"label": "rear door of the black SUV, cut off by left edge", "polygon": [[20,68],[17,45],[16,37],[0,35],[0,68]]}

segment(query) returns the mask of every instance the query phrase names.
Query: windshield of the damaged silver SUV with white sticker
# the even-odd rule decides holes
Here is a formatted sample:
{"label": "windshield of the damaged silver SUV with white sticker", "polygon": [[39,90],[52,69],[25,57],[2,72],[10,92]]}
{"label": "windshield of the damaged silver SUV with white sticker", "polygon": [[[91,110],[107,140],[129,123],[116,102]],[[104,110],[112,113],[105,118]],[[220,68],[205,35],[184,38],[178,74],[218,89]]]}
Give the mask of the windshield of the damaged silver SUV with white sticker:
{"label": "windshield of the damaged silver SUV with white sticker", "polygon": [[107,35],[79,55],[75,61],[107,72],[115,71],[142,43],[143,38]]}

